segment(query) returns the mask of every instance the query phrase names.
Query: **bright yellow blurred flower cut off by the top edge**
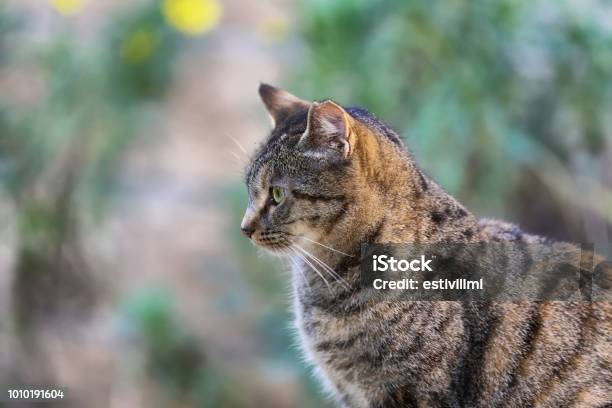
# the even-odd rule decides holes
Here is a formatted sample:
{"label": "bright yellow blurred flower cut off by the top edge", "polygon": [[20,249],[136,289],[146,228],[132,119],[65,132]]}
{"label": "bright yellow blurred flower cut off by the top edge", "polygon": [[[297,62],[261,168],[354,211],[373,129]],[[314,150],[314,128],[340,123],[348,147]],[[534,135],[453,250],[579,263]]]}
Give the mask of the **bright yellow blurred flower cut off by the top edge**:
{"label": "bright yellow blurred flower cut off by the top edge", "polygon": [[168,24],[188,35],[210,31],[221,19],[218,0],[164,0],[162,10]]}

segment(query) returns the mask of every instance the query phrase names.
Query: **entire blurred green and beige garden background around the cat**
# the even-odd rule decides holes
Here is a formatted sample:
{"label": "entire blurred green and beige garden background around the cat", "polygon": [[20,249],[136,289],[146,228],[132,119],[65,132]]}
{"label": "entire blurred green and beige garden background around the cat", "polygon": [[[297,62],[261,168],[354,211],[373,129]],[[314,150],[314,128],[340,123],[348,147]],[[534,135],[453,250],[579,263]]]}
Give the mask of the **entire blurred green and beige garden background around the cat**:
{"label": "entire blurred green and beige garden background around the cat", "polygon": [[330,406],[238,229],[259,81],[368,107],[477,215],[610,256],[610,2],[0,0],[2,390]]}

